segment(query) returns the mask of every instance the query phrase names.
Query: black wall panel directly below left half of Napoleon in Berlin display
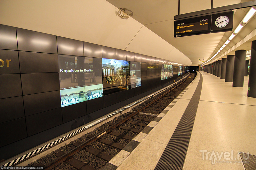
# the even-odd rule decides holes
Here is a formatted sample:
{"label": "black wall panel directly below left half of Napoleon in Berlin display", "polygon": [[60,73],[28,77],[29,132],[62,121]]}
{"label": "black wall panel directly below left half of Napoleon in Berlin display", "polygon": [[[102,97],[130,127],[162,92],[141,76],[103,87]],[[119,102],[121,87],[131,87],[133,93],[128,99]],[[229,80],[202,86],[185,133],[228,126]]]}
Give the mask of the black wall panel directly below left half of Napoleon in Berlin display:
{"label": "black wall panel directly below left half of Napoleon in Berlin display", "polygon": [[62,109],[63,123],[66,123],[68,121],[71,121],[78,117],[86,115],[87,114],[86,102],[87,101],[76,103],[75,105],[62,107],[61,109]]}

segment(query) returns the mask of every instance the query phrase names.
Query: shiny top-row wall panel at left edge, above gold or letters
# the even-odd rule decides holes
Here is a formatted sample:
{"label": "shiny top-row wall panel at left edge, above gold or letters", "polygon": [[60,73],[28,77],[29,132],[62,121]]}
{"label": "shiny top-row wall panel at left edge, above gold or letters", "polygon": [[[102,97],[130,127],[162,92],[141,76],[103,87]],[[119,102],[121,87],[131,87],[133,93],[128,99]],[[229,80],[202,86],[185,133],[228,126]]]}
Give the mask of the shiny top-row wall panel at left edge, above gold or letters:
{"label": "shiny top-row wall panel at left edge, above gold or letters", "polygon": [[15,27],[0,24],[0,49],[18,50]]}

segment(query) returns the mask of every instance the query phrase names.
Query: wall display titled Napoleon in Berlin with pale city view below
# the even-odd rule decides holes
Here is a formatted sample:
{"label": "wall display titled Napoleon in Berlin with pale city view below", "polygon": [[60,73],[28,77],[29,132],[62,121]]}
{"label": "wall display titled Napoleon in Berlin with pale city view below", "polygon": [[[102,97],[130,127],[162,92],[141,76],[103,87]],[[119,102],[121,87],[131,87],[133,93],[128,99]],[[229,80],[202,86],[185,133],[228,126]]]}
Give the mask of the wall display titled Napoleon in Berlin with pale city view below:
{"label": "wall display titled Napoleon in Berlin with pale city view below", "polygon": [[103,96],[101,58],[59,55],[61,107]]}

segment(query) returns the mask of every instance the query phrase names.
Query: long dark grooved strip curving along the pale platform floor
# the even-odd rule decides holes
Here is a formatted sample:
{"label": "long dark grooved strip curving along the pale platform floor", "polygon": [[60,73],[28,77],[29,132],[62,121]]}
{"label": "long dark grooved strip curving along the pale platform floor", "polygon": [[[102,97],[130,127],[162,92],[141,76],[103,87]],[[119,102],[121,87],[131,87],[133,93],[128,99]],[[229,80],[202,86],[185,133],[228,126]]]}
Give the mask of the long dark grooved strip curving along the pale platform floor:
{"label": "long dark grooved strip curving along the pale platform floor", "polygon": [[196,117],[196,110],[200,100],[202,83],[203,77],[200,73],[200,80],[196,90],[159,159],[155,170],[181,170],[183,168]]}

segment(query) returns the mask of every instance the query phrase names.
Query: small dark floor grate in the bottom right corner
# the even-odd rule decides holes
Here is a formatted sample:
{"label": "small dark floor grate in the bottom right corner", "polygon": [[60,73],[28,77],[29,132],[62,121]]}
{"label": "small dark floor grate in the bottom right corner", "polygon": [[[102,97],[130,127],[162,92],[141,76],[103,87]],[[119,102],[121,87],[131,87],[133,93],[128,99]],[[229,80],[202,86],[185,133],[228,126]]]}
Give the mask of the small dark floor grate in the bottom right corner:
{"label": "small dark floor grate in the bottom right corner", "polygon": [[255,170],[256,169],[256,156],[247,154],[244,152],[239,152],[242,162],[244,164],[245,170]]}

